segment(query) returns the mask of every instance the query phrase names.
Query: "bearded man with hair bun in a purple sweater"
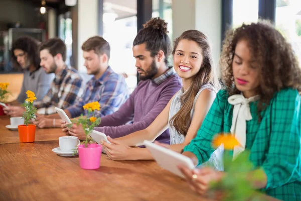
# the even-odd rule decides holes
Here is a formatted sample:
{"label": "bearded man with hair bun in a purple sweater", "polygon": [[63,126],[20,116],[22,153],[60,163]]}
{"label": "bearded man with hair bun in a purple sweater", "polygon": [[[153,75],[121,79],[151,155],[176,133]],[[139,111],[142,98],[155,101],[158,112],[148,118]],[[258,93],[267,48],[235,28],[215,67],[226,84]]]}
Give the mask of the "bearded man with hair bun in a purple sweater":
{"label": "bearded man with hair bun in a purple sweater", "polygon": [[[128,135],[148,127],[166,107],[173,95],[182,87],[181,80],[172,66],[168,66],[171,42],[167,35],[167,23],[160,18],[148,21],[139,30],[133,42],[133,56],[140,82],[120,109],[101,119],[94,130],[111,138]],[[131,124],[127,124],[131,122]],[[82,126],[73,124],[71,128],[61,121],[67,135],[85,139]],[[170,142],[168,130],[157,140]]]}

